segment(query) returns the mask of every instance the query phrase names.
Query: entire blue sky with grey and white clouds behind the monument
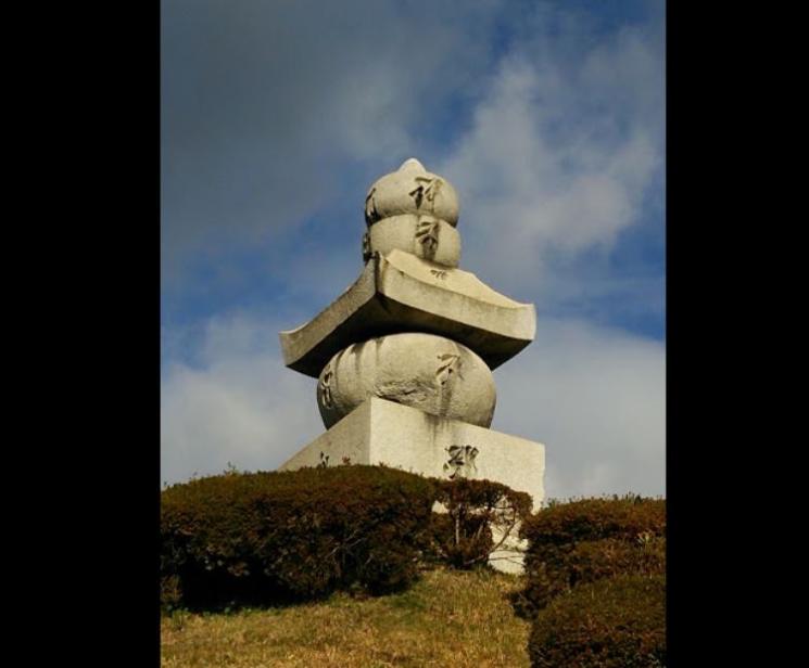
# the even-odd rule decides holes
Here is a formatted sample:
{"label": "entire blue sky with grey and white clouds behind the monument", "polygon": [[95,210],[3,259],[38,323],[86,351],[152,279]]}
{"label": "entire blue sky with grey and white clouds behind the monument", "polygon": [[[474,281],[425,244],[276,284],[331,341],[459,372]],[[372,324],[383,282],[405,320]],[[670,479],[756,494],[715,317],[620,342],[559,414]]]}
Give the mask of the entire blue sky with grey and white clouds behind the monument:
{"label": "entire blue sky with grey and white clouds behind the monument", "polygon": [[410,156],[462,268],[536,305],[492,428],[547,494],[665,493],[665,2],[163,0],[162,479],[271,470],[324,429],[278,335],[362,270]]}

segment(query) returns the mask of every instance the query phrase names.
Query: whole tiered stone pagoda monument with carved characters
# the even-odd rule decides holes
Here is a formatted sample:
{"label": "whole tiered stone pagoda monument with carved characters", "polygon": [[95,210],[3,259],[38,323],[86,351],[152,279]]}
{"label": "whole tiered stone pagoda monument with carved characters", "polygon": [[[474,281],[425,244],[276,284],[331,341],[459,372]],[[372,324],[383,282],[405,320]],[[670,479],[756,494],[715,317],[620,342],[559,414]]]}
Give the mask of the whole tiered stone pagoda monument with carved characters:
{"label": "whole tiered stone pagoda monument with carved characters", "polygon": [[415,158],[371,185],[365,222],[359,278],[280,333],[286,365],[317,378],[327,428],[280,470],[350,462],[485,478],[538,510],[544,446],[489,428],[492,370],[533,341],[533,305],[458,269],[457,194]]}

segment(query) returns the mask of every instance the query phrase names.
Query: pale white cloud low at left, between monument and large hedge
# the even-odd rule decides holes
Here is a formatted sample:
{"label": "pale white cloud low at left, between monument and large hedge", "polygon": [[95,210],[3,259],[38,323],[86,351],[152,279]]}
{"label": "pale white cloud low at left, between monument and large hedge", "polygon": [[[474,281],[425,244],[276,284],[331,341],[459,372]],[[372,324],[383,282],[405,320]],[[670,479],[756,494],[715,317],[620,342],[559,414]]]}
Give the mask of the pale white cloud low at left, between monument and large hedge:
{"label": "pale white cloud low at left, between monument and large hedge", "polygon": [[170,361],[161,382],[161,476],[274,470],[314,438],[321,422],[314,381],[288,371],[278,329],[237,314],[214,318],[197,360]]}

